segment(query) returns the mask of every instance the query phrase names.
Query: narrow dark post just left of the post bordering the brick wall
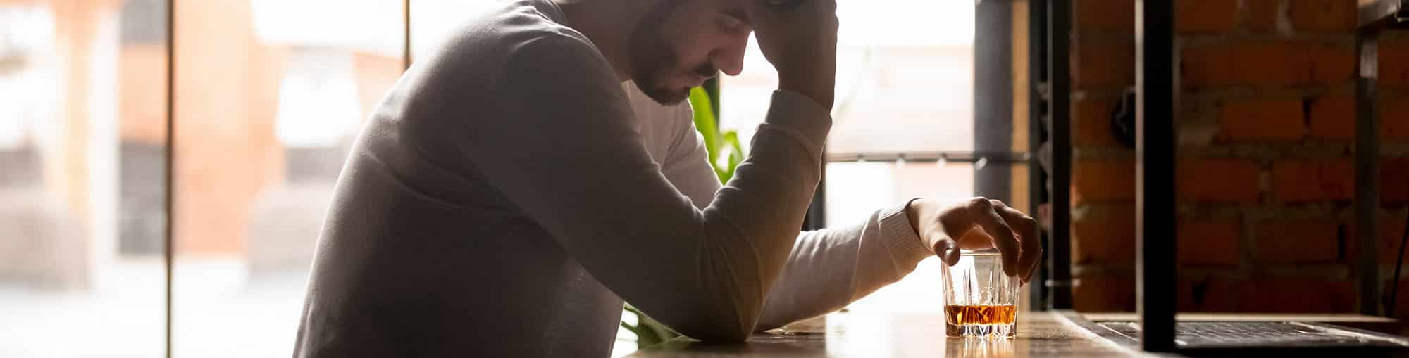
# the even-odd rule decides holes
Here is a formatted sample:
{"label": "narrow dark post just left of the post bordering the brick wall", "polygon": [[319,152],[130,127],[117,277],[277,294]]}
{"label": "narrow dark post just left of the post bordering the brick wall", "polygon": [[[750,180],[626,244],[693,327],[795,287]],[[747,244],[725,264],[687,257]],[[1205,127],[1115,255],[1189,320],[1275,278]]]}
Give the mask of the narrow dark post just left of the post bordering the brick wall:
{"label": "narrow dark post just left of the post bordering the brick wall", "polygon": [[[1041,83],[1047,80],[1047,0],[1029,0],[1027,3],[1027,151],[1037,154],[1041,151],[1044,132],[1047,125],[1043,120],[1045,116],[1045,100],[1043,99]],[[1047,172],[1043,169],[1041,161],[1030,161],[1027,163],[1027,213],[1037,216],[1040,206],[1045,200],[1047,189]],[[1048,234],[1044,230],[1043,237],[1043,252],[1050,251]],[[1048,271],[1045,265],[1038,265],[1037,272],[1033,273],[1033,282],[1047,282]],[[1034,310],[1047,309],[1047,286],[1033,285],[1031,286],[1031,307]]]}

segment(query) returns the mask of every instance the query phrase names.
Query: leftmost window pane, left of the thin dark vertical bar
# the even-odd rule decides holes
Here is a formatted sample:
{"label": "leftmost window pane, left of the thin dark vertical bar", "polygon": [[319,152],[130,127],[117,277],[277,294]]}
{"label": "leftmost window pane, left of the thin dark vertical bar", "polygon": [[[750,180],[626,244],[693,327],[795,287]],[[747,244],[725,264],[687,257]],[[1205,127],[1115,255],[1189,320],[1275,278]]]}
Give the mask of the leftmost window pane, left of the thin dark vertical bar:
{"label": "leftmost window pane, left of the thin dark vertical bar", "polygon": [[0,3],[0,357],[165,352],[163,4]]}

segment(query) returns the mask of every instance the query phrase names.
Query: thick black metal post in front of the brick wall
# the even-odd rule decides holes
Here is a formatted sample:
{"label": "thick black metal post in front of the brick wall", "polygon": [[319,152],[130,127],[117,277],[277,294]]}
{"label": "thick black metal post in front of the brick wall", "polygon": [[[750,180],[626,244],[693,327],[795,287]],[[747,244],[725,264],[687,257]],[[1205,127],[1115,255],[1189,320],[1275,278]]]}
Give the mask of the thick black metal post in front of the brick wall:
{"label": "thick black metal post in front of the brick wall", "polygon": [[1136,310],[1140,348],[1172,351],[1175,278],[1174,6],[1136,3]]}

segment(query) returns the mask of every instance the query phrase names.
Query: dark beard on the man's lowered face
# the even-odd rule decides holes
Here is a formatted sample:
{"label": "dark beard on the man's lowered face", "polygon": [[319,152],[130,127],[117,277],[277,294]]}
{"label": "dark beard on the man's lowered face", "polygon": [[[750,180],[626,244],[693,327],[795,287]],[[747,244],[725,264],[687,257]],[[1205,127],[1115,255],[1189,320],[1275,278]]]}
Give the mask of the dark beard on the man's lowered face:
{"label": "dark beard on the man's lowered face", "polygon": [[[672,66],[679,62],[679,55],[671,49],[662,34],[671,11],[683,1],[661,0],[655,3],[651,11],[641,17],[641,23],[631,30],[631,80],[647,97],[659,104],[676,104],[690,94],[689,89],[672,89],[666,85]],[[695,70],[702,75],[709,73],[706,76],[713,76],[716,72],[714,66],[709,63],[696,66]]]}

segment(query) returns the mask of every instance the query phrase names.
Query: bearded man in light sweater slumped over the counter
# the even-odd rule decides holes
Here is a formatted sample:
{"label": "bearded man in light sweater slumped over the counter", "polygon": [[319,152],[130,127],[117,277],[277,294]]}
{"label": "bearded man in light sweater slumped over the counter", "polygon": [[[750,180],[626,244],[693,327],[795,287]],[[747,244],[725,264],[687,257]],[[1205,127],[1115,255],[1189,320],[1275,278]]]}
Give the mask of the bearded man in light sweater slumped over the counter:
{"label": "bearded man in light sweater slumped over the counter", "polygon": [[[1036,223],[910,200],[797,233],[821,175],[834,0],[517,0],[418,59],[338,180],[296,357],[607,357],[623,300],[743,340],[844,307],[938,254],[996,247],[1027,278]],[[778,92],[723,187],[681,101],[737,75]],[[647,99],[648,97],[648,99]]]}

